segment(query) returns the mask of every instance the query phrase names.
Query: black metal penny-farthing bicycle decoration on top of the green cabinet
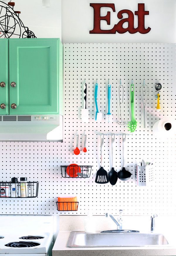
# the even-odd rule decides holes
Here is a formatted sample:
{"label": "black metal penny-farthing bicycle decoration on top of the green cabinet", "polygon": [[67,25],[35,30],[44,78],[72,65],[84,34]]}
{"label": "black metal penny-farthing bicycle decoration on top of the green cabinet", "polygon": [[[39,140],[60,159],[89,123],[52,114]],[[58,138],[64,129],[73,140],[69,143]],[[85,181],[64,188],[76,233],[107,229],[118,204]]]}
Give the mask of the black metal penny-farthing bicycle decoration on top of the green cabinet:
{"label": "black metal penny-farthing bicycle decoration on top of the green cabinet", "polygon": [[14,10],[15,2],[0,1],[0,38],[36,38],[33,31],[19,18],[21,11]]}

